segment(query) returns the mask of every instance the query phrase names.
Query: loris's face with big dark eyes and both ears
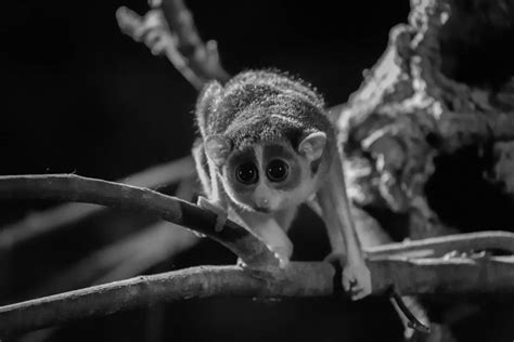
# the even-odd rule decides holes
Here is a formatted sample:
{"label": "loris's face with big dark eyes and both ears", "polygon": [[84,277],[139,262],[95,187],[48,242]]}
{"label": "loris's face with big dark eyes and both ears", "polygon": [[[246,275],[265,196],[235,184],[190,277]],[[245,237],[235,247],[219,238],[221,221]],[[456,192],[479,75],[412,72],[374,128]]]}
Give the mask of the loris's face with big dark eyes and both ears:
{"label": "loris's face with big dark eyes and both ears", "polygon": [[297,148],[277,141],[233,149],[229,139],[216,135],[205,148],[232,201],[247,210],[273,212],[296,207],[314,192],[325,143],[326,134],[316,132]]}

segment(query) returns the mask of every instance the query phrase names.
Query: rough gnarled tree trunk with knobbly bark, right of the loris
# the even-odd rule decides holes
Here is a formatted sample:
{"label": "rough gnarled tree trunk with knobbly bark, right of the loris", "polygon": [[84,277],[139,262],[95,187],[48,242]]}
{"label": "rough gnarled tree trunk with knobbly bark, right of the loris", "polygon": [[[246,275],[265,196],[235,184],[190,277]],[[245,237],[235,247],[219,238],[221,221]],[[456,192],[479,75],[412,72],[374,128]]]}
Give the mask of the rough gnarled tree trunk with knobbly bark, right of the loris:
{"label": "rough gnarled tree trunk with knobbly bark, right of the loris", "polygon": [[344,106],[337,122],[354,199],[370,212],[404,214],[402,237],[462,228],[429,205],[438,157],[476,148],[483,181],[514,192],[512,23],[513,1],[412,1],[409,24],[391,29]]}

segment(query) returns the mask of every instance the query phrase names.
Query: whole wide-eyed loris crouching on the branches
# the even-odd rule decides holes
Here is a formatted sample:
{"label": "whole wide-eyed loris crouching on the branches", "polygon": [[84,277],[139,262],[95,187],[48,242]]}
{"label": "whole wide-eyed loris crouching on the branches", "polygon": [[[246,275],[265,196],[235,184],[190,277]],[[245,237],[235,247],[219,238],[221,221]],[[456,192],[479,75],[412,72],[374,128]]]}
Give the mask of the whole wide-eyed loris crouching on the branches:
{"label": "whole wide-eyed loris crouching on the branches", "polygon": [[[206,86],[196,104],[202,139],[193,149],[207,199],[198,205],[255,232],[284,267],[287,229],[303,202],[317,200],[354,300],[371,292],[350,216],[336,133],[322,97],[271,71],[246,71]],[[345,255],[345,256],[343,256]]]}

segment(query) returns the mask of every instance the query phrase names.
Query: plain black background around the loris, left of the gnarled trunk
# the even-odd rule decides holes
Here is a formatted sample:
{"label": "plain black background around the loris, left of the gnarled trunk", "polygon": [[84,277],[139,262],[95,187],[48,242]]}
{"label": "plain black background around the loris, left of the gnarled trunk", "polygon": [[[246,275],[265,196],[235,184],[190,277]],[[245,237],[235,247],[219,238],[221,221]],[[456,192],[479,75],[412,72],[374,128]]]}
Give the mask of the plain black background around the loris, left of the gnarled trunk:
{"label": "plain black background around the loris, left of the gnarled trunk", "polygon": [[[362,71],[386,48],[389,29],[404,23],[409,12],[407,0],[187,4],[202,38],[218,41],[229,73],[260,67],[288,70],[316,86],[329,105],[346,102],[358,89]],[[73,172],[116,180],[189,154],[196,91],[165,57],[153,56],[124,36],[115,19],[120,5],[143,14],[145,1],[4,5],[0,174]],[[52,205],[2,202],[0,223]],[[62,267],[151,220],[116,212],[0,254],[2,303],[30,298],[33,288],[59,275]],[[320,229],[308,229],[313,225]],[[294,258],[321,260],[327,252],[323,234],[319,220],[303,212],[292,232]],[[145,273],[233,261],[219,246],[203,241],[172,263]],[[381,298],[358,303],[215,299],[86,320],[54,331],[48,340],[399,341],[400,337],[400,323]]]}

